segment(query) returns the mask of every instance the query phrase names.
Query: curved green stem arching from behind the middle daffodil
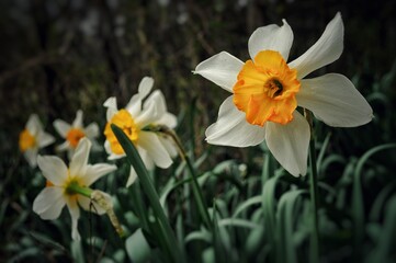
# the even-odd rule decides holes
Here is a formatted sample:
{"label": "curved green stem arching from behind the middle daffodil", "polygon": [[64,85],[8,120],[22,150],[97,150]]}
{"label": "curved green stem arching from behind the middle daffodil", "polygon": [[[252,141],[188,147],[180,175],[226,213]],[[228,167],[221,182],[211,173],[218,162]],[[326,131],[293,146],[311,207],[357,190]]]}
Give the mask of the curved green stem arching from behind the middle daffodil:
{"label": "curved green stem arching from behind the middle daffodil", "polygon": [[190,172],[190,175],[191,175],[191,179],[192,179],[192,191],[193,191],[193,195],[194,195],[196,205],[199,207],[202,220],[204,221],[206,227],[210,230],[212,230],[213,224],[211,222],[211,217],[210,217],[210,214],[207,211],[207,205],[205,203],[205,199],[203,197],[200,184],[199,184],[197,179],[196,179],[197,176],[196,176],[196,173],[195,173],[195,169],[194,169],[190,158],[185,153],[185,151],[183,149],[183,146],[181,145],[181,142],[179,140],[179,137],[174,134],[173,130],[171,130],[171,129],[169,129],[167,127],[163,127],[163,126],[159,129],[159,132],[170,136],[173,139],[174,144],[177,145],[178,150],[179,150],[179,155],[185,161],[186,168],[188,168],[188,170]]}

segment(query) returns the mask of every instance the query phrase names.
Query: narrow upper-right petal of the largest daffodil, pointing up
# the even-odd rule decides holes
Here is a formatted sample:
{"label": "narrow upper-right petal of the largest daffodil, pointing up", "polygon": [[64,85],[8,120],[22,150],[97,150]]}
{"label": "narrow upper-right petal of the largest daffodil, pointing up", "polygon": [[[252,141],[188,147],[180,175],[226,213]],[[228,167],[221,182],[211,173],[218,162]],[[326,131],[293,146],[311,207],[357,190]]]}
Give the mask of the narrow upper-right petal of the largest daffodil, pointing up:
{"label": "narrow upper-right petal of the largest daffodil, pointing up", "polygon": [[288,64],[297,70],[297,78],[303,79],[308,73],[337,60],[343,49],[343,23],[341,14],[326,26],[320,38],[302,56]]}

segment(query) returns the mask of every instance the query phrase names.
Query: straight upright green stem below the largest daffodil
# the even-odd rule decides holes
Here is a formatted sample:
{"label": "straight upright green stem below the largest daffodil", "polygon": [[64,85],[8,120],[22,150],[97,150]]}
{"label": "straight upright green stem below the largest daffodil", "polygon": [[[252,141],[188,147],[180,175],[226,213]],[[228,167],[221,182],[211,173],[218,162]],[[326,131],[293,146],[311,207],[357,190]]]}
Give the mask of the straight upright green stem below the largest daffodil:
{"label": "straight upright green stem below the largest daffodil", "polygon": [[310,162],[310,173],[309,173],[309,193],[312,201],[312,215],[313,215],[313,231],[310,235],[310,262],[319,262],[319,227],[318,227],[318,173],[316,167],[316,149],[315,149],[315,137],[313,134],[313,121],[312,113],[305,111],[306,118],[310,126],[310,144],[309,144],[309,162]]}

